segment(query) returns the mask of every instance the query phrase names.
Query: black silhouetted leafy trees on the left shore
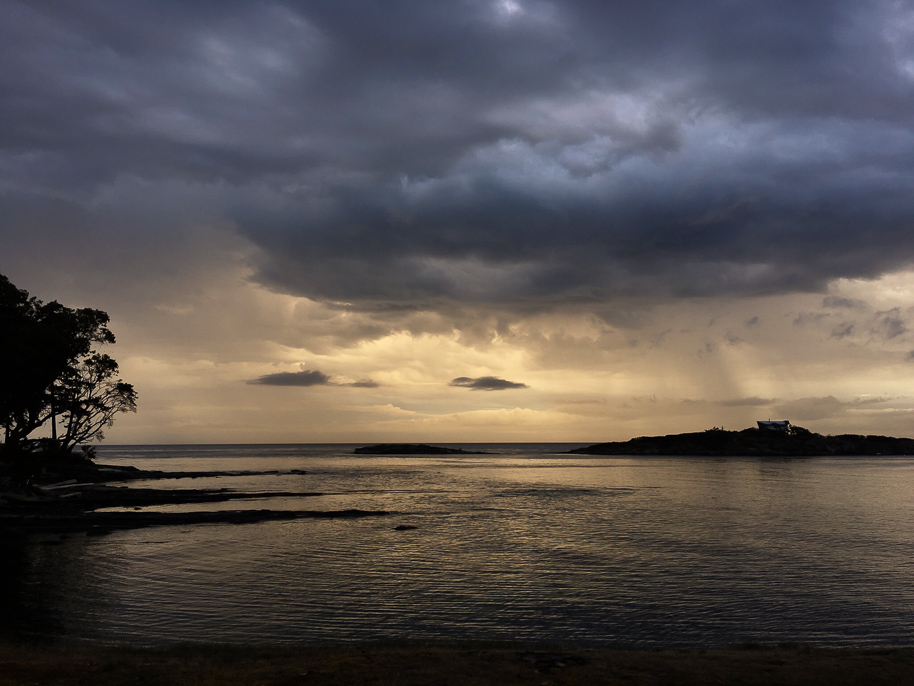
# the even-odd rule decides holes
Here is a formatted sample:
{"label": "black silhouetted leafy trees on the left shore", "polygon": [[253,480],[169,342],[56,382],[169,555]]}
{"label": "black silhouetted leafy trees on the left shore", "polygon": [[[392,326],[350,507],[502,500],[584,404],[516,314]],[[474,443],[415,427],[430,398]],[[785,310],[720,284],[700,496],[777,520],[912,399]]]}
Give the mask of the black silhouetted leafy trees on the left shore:
{"label": "black silhouetted leafy trees on the left shore", "polygon": [[101,310],[43,303],[0,274],[2,452],[21,451],[36,429],[58,418],[58,448],[98,438],[117,412],[136,409],[133,386],[115,379],[117,363],[93,346],[114,343]]}

